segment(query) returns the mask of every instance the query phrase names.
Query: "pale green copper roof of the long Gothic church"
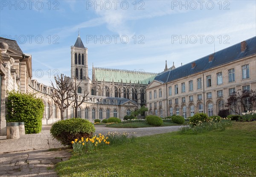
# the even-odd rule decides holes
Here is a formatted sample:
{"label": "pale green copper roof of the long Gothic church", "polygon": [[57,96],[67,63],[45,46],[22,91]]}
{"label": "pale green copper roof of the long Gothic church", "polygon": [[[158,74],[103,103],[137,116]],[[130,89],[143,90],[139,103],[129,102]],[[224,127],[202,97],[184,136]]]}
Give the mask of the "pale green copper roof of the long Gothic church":
{"label": "pale green copper roof of the long Gothic church", "polygon": [[93,80],[107,81],[107,82],[123,82],[135,83],[138,81],[140,84],[148,84],[154,80],[157,73],[146,73],[143,71],[129,71],[129,70],[116,70],[107,68],[93,68]]}

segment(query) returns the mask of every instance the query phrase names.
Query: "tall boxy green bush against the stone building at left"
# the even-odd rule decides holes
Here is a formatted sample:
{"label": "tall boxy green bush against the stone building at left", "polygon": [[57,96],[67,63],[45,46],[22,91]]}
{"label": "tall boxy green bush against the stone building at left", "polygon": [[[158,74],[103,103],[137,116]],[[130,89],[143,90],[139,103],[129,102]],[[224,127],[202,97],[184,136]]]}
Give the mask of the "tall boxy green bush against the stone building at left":
{"label": "tall boxy green bush against the stone building at left", "polygon": [[40,133],[44,114],[44,102],[32,93],[9,93],[7,122],[25,122],[25,133]]}

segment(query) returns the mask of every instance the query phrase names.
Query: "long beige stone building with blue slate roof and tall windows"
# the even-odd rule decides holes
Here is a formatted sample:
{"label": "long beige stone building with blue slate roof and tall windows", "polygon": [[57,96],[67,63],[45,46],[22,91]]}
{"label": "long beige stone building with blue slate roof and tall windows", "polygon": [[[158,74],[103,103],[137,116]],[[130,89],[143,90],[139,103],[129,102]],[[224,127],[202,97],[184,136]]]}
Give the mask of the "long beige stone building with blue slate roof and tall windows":
{"label": "long beige stone building with blue slate roof and tall windows", "polygon": [[146,89],[148,114],[218,115],[238,90],[256,90],[256,37],[157,75]]}

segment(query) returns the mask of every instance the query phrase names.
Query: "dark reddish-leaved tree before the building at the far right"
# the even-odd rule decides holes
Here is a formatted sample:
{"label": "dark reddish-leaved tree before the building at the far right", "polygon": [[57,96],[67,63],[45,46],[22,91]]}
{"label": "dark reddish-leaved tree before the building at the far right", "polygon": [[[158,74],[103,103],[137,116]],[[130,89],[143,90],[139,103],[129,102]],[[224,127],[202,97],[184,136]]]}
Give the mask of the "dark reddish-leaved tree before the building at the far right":
{"label": "dark reddish-leaved tree before the building at the far right", "polygon": [[238,90],[228,97],[225,106],[240,115],[240,108],[243,108],[244,112],[246,112],[253,108],[254,104],[256,104],[256,90]]}

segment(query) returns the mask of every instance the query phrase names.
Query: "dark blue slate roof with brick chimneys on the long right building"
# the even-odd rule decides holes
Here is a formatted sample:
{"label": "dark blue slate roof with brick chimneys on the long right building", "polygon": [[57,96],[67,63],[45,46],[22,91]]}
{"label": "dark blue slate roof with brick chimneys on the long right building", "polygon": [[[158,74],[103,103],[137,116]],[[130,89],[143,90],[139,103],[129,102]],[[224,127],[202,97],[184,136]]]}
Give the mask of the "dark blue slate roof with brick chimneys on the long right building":
{"label": "dark blue slate roof with brick chimneys on the long right building", "polygon": [[[247,46],[243,52],[241,52],[241,43],[238,43],[226,49],[212,53],[211,55],[213,56],[213,59],[210,62],[209,57],[211,55],[207,55],[203,58],[199,58],[196,61],[192,61],[191,63],[185,64],[181,67],[177,67],[174,70],[169,70],[160,75],[157,75],[154,80],[161,81],[163,83],[174,81],[179,78],[183,78],[195,73],[200,73],[213,67],[227,64],[246,56],[256,54],[256,37],[250,38],[245,42]],[[195,64],[194,68],[192,68],[193,63]]]}

